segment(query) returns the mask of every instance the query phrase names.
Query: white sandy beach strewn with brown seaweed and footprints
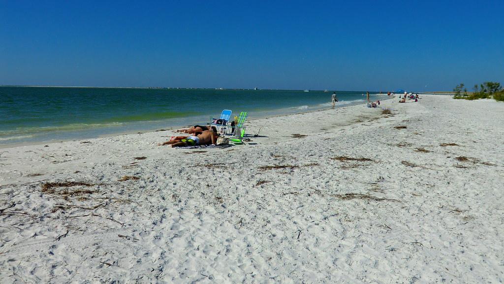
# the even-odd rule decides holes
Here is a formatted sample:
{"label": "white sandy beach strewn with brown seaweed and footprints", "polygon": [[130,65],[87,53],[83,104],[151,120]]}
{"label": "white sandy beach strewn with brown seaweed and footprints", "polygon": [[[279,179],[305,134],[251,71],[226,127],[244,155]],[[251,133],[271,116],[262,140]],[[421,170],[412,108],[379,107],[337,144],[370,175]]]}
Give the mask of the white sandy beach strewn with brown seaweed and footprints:
{"label": "white sandy beach strewn with brown seaweed and footprints", "polygon": [[381,107],[1,149],[0,282],[502,283],[504,103]]}

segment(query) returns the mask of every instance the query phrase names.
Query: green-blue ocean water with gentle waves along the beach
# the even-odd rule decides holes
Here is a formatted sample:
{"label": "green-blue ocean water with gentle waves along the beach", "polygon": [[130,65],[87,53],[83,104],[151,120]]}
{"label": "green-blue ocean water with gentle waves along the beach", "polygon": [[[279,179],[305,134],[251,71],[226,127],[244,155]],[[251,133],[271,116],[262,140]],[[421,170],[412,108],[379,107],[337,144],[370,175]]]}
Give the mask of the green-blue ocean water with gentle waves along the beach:
{"label": "green-blue ocean water with gentle waves along the beach", "polygon": [[[337,91],[337,107],[364,103]],[[0,86],[0,145],[206,124],[223,109],[248,118],[328,109],[332,91]],[[372,94],[371,100],[387,96]]]}

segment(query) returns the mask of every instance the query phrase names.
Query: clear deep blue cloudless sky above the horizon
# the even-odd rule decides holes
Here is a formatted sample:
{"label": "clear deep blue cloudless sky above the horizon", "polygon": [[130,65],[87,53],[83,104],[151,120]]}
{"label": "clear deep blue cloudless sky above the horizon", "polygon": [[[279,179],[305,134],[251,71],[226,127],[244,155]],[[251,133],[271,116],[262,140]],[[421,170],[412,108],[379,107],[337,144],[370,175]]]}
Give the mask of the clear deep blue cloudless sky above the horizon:
{"label": "clear deep blue cloudless sky above the horizon", "polygon": [[4,1],[0,84],[504,84],[504,1]]}

